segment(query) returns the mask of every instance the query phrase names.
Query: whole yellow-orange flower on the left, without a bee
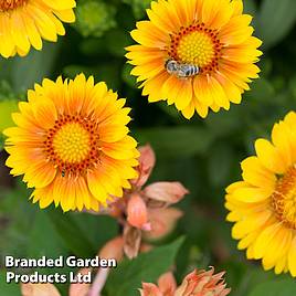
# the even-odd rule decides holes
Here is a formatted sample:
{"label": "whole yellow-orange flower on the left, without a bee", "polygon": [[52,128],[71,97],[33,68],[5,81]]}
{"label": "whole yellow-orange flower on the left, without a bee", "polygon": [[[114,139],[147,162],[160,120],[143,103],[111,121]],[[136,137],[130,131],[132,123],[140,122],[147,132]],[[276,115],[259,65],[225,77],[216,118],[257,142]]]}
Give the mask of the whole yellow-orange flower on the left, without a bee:
{"label": "whole yellow-orange flower on the left, without a bee", "polygon": [[128,136],[126,99],[81,74],[74,81],[44,80],[28,92],[28,101],[12,114],[17,127],[3,134],[7,166],[34,188],[33,202],[97,211],[130,188],[139,152]]}

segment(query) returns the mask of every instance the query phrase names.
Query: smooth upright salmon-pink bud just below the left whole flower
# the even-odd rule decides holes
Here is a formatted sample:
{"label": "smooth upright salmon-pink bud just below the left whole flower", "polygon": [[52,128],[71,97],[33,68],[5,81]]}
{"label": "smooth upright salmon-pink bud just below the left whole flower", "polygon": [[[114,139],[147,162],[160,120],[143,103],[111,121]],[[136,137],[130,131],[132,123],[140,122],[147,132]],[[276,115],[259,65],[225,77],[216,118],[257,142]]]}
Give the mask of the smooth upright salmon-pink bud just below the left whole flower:
{"label": "smooth upright salmon-pink bud just below the left whole flower", "polygon": [[147,207],[141,197],[137,193],[131,194],[127,204],[127,221],[137,229],[149,229]]}

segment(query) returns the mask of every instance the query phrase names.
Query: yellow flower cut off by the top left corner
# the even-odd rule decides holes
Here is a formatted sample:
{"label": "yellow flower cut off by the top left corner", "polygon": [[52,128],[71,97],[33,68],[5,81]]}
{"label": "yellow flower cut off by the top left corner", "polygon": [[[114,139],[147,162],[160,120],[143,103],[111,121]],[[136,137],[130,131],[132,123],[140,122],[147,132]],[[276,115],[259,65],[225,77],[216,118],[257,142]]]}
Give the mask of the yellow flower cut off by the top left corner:
{"label": "yellow flower cut off by the top left corner", "polygon": [[74,22],[75,0],[1,0],[0,55],[24,56],[31,45],[42,49],[42,39],[56,42],[64,35],[63,22]]}

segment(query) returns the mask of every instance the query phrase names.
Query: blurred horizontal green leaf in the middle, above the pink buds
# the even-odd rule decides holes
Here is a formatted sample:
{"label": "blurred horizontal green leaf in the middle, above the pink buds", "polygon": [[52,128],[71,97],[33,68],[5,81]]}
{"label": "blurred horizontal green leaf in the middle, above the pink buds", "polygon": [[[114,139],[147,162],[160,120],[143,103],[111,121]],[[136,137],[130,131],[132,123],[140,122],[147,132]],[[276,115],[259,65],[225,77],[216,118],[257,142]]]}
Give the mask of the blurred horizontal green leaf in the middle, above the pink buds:
{"label": "blurred horizontal green leaf in the middle, above the pink buds", "polygon": [[204,154],[213,140],[205,128],[183,126],[138,129],[136,138],[141,145],[151,144],[160,158]]}

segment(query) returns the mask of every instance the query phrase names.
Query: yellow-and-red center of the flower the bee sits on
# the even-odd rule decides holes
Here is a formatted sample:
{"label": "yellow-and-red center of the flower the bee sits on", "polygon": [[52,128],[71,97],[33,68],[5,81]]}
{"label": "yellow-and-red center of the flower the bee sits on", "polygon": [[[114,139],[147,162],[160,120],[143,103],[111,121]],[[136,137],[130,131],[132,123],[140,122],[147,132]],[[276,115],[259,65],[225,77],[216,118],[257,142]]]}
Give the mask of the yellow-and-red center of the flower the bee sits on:
{"label": "yellow-and-red center of the flower the bee sits on", "polygon": [[201,73],[218,70],[222,44],[218,31],[207,29],[203,23],[191,24],[171,35],[169,56],[184,64],[200,67]]}

